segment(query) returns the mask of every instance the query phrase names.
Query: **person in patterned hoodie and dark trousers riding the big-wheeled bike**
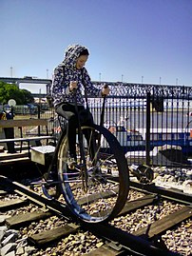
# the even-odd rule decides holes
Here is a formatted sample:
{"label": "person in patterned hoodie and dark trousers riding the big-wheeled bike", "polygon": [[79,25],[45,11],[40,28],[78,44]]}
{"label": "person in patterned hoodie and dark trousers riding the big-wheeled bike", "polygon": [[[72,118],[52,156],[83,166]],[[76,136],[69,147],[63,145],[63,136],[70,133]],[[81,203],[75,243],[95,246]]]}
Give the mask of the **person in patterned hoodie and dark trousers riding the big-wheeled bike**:
{"label": "person in patterned hoodie and dark trousers riding the big-wheeled bike", "polygon": [[[92,114],[85,108],[84,94],[87,96],[104,96],[109,94],[108,88],[97,89],[90,80],[85,68],[88,49],[81,45],[70,45],[65,51],[64,61],[53,73],[51,96],[56,112],[68,121],[68,165],[76,163],[76,128],[78,117],[75,109],[75,97],[81,125],[93,123]],[[84,92],[83,92],[84,91]]]}

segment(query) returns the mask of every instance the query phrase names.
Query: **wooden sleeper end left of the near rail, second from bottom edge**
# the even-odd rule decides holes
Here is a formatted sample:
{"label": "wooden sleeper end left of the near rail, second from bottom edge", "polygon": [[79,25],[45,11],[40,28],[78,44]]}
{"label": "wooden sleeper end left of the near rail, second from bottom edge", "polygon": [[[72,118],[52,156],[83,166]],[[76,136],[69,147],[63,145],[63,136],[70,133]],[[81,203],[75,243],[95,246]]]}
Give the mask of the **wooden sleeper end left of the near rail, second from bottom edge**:
{"label": "wooden sleeper end left of the near rail, second from bottom edge", "polygon": [[65,226],[54,227],[49,230],[44,230],[41,233],[29,236],[29,241],[36,246],[42,246],[50,242],[67,237],[69,234],[75,233],[79,226],[74,224],[66,224]]}

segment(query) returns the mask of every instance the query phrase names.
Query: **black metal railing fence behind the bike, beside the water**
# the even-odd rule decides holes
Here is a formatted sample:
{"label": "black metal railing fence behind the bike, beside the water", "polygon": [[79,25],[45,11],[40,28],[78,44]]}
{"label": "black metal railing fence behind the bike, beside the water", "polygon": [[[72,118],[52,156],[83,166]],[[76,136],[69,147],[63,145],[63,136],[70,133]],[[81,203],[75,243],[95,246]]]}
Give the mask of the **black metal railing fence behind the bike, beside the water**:
{"label": "black metal railing fence behind the bike, beside the water", "polygon": [[[179,86],[106,83],[105,126],[118,138],[128,164],[190,166],[192,156],[192,89]],[[95,83],[101,88],[101,84]],[[102,98],[88,98],[100,124]],[[41,109],[49,130],[60,131],[54,109]],[[191,133],[191,134],[190,134]]]}

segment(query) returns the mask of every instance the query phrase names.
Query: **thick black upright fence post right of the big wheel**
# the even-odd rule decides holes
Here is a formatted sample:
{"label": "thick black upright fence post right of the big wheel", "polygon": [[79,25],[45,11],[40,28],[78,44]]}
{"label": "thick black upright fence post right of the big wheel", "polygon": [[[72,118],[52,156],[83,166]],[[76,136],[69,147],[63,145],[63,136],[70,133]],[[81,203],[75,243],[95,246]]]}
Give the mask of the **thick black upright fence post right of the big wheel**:
{"label": "thick black upright fence post right of the big wheel", "polygon": [[145,133],[145,152],[146,165],[150,165],[150,92],[146,93],[146,133]]}

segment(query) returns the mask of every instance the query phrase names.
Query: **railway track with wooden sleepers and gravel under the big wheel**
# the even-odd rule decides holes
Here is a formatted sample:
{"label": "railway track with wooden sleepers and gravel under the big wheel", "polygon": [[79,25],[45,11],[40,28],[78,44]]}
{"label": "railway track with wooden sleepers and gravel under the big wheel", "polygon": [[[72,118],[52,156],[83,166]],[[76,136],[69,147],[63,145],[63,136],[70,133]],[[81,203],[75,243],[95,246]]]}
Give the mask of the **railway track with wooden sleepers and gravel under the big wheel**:
{"label": "railway track with wooden sleepers and gravel under the big wheel", "polygon": [[[122,212],[107,224],[91,225],[72,219],[63,200],[48,200],[39,191],[5,176],[0,176],[0,187],[3,190],[0,211],[10,215],[2,226],[18,229],[22,238],[28,237],[29,245],[33,246],[29,255],[164,256],[192,253],[192,245],[188,243],[181,247],[167,246],[171,239],[168,236],[172,236],[174,230],[177,237],[183,239],[181,226],[188,227],[185,235],[192,239],[192,196],[180,191],[131,182],[129,198]],[[10,194],[18,197],[10,199]],[[29,211],[24,212],[28,207]],[[56,220],[54,226],[48,226],[50,219]],[[181,233],[177,228],[181,228]],[[90,237],[88,245],[85,242],[87,236]],[[63,250],[57,249],[63,243],[68,245]],[[75,246],[82,247],[81,252]]]}

